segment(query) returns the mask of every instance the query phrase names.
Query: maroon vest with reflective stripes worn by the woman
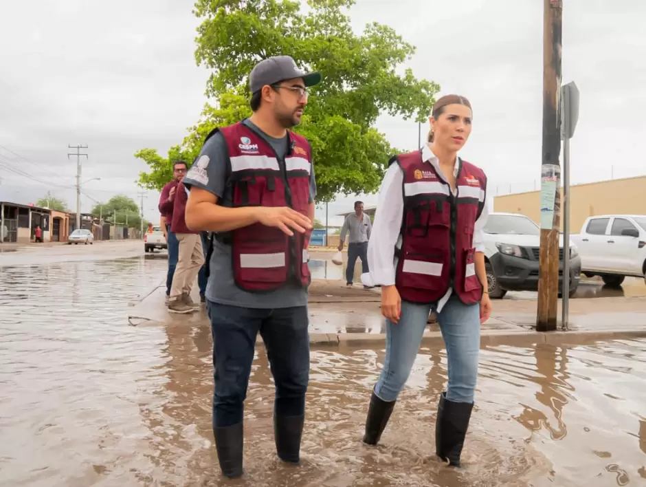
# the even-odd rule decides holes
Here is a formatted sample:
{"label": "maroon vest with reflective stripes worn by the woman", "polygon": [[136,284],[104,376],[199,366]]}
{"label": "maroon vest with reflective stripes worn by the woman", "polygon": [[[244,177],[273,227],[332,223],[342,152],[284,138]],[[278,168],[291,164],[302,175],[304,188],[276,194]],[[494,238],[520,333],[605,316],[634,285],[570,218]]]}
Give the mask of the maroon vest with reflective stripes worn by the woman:
{"label": "maroon vest with reflective stripes worn by the woman", "polygon": [[485,173],[458,159],[454,197],[420,151],[393,160],[403,171],[402,241],[395,278],[401,299],[434,303],[452,287],[463,303],[480,301],[473,243],[476,219],[485,206]]}

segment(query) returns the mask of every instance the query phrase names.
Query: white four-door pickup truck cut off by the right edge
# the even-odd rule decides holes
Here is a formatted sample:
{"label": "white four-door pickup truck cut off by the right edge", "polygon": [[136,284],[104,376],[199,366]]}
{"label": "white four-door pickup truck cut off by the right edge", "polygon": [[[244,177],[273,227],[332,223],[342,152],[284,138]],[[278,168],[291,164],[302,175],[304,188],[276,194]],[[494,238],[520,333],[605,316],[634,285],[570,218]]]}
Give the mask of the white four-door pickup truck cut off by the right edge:
{"label": "white four-door pickup truck cut off by the right edge", "polygon": [[586,277],[619,287],[626,276],[646,279],[646,215],[599,215],[572,235]]}

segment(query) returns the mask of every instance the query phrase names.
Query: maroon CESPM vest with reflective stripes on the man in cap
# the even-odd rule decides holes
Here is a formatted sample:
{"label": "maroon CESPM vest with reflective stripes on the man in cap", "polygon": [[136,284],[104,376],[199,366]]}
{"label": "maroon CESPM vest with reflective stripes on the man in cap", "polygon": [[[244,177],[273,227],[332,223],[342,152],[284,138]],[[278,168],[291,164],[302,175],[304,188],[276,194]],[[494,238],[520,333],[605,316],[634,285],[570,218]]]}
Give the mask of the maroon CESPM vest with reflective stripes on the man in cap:
{"label": "maroon CESPM vest with reflective stripes on the man in cap", "polygon": [[[307,139],[289,133],[285,166],[274,149],[252,129],[238,122],[216,129],[227,142],[233,206],[289,206],[303,215],[309,207],[311,147]],[[307,288],[311,282],[307,245],[311,232],[289,237],[278,228],[253,224],[229,232],[236,285],[251,292],[271,292],[291,278]]]}

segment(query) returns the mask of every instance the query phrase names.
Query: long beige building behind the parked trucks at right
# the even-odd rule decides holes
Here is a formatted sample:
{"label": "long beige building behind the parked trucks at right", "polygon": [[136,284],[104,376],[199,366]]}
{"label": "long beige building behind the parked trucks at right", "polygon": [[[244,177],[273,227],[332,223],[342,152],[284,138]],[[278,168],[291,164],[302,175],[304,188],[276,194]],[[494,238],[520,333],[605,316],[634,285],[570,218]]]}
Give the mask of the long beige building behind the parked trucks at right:
{"label": "long beige building behind the parked trucks at right", "polygon": [[[561,208],[562,203],[561,188]],[[496,196],[493,210],[522,213],[540,224],[540,191]],[[646,215],[646,176],[570,186],[570,231],[578,233],[594,215]],[[561,228],[563,217],[561,215]]]}

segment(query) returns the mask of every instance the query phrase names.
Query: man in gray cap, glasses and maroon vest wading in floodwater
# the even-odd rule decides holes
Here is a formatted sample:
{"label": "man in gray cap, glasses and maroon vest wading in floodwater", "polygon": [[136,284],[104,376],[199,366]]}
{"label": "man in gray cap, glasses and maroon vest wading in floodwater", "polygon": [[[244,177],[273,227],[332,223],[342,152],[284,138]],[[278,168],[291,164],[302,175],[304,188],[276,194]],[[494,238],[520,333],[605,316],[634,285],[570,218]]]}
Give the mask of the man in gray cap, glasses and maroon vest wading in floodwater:
{"label": "man in gray cap, glasses and maroon vest wading in floodwater", "polygon": [[309,142],[289,129],[307,105],[306,74],[289,56],[249,76],[253,115],[206,138],[183,180],[186,224],[214,232],[206,288],[213,337],[213,432],[226,477],[243,473],[243,403],[260,333],[276,386],[278,457],[300,461],[309,380],[307,247],[316,185]]}

